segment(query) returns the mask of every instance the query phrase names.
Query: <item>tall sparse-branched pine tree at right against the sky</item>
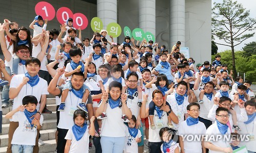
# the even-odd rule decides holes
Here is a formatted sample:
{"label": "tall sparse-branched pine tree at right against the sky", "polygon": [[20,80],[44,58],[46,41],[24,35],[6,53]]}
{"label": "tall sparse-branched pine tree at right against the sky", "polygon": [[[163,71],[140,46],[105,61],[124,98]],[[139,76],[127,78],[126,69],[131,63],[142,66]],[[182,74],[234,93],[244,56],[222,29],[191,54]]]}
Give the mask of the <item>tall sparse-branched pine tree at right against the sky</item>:
{"label": "tall sparse-branched pine tree at right against the sky", "polygon": [[250,11],[243,8],[237,1],[223,0],[223,3],[214,3],[212,8],[212,35],[224,40],[225,43],[216,43],[231,47],[232,68],[237,76],[234,47],[252,37],[256,20],[249,17]]}

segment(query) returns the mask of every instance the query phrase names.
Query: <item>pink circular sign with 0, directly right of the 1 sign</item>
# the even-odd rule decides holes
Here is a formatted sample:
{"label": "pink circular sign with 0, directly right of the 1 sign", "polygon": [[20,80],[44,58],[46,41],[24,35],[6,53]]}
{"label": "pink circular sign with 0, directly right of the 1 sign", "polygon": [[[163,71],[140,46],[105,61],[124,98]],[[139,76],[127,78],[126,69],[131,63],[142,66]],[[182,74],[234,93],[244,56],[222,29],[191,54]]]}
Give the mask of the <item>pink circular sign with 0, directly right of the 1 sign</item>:
{"label": "pink circular sign with 0, directly right of the 1 sign", "polygon": [[[71,17],[73,18],[73,12],[66,7],[61,7],[58,9],[56,13],[57,20],[60,24],[66,23],[66,21]],[[73,18],[73,24],[74,24],[74,18]]]}

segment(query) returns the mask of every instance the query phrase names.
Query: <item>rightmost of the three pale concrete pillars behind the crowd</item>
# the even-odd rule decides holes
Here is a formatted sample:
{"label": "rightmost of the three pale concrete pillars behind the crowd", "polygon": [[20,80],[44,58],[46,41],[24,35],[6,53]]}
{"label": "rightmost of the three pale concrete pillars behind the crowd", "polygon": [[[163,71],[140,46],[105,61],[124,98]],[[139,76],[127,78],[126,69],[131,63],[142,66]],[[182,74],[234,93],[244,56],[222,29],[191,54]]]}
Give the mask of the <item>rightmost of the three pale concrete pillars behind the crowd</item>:
{"label": "rightmost of the three pale concrete pillars behind the crowd", "polygon": [[185,47],[185,0],[170,0],[170,49],[181,41]]}

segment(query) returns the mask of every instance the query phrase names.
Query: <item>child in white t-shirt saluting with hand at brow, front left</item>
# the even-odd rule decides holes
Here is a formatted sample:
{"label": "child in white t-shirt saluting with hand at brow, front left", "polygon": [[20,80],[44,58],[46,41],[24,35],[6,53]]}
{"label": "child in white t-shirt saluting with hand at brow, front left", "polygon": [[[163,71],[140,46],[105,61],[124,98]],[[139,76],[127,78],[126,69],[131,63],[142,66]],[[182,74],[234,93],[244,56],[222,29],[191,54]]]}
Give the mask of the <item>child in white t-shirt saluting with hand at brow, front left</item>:
{"label": "child in white t-shirt saluting with hand at brow, front left", "polygon": [[20,150],[23,150],[21,152],[33,152],[37,130],[41,129],[42,121],[44,121],[42,115],[39,120],[33,117],[37,113],[37,103],[35,96],[25,96],[22,99],[23,105],[6,114],[6,118],[18,120],[18,127],[13,134],[11,142],[12,152],[20,152]]}

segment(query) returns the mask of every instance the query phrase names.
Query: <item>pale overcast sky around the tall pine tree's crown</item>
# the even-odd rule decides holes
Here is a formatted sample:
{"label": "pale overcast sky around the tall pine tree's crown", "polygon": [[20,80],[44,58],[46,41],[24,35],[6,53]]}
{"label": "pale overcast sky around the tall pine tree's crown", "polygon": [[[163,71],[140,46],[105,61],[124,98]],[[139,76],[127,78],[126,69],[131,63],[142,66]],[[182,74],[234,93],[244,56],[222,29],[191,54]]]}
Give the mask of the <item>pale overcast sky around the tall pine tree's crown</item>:
{"label": "pale overcast sky around the tall pine tree's crown", "polygon": [[[234,1],[234,0],[232,0],[232,1]],[[213,7],[213,6],[214,6],[214,5],[213,5],[214,2],[216,2],[216,3],[222,3],[223,0],[212,0],[211,2],[212,2],[211,7]],[[237,2],[240,3],[240,4],[242,4],[243,7],[244,7],[246,10],[250,10],[250,17],[256,19],[256,9],[255,9],[255,8],[256,8],[256,1],[255,1],[255,0],[237,0]],[[256,31],[254,30],[254,32],[256,32]],[[241,50],[242,47],[245,46],[245,44],[250,43],[250,42],[252,42],[252,41],[256,41],[256,33],[254,34],[253,37],[251,37],[251,38],[249,38],[249,39],[243,41],[240,45],[237,45],[234,49],[235,49],[235,50]],[[215,42],[221,43],[221,42],[224,42],[224,41],[221,41],[221,40],[217,40],[217,39],[216,39]],[[217,45],[217,46],[218,46],[218,52],[224,51],[224,50],[226,50],[226,49],[231,49],[230,47],[224,46],[224,45]]]}

